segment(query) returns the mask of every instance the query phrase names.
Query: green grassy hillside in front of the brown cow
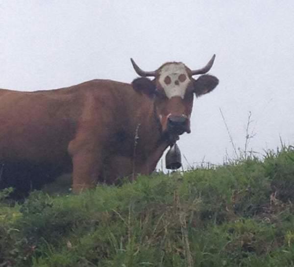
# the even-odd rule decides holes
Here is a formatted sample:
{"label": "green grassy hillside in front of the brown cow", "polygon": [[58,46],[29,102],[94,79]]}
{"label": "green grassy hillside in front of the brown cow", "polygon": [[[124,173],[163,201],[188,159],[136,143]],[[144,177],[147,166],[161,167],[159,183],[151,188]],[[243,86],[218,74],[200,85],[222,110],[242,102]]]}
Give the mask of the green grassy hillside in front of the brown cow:
{"label": "green grassy hillside in front of the brown cow", "polygon": [[0,204],[0,267],[294,266],[294,150]]}

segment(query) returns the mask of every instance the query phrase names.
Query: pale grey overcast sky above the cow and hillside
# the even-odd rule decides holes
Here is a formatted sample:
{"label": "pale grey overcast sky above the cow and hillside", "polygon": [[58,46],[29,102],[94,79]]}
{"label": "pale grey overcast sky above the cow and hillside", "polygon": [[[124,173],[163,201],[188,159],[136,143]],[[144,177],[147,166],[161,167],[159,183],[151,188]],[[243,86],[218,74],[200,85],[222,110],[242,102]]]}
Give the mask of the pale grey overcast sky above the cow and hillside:
{"label": "pale grey overcast sky above the cow and hillside", "polygon": [[216,54],[220,84],[194,100],[183,165],[236,158],[249,114],[248,149],[262,156],[294,143],[293,14],[292,0],[0,0],[0,88],[131,82],[130,57],[153,71]]}

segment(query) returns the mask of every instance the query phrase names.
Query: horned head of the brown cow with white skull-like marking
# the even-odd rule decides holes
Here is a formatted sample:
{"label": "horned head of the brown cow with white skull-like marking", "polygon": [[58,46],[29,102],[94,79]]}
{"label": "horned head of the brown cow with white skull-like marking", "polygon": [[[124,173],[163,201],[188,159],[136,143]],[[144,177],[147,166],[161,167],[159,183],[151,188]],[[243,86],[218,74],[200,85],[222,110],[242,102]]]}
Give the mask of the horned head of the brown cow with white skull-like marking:
{"label": "horned head of the brown cow with white skull-like marking", "polygon": [[[204,68],[192,71],[181,62],[169,62],[154,72],[145,72],[131,59],[133,67],[141,78],[133,81],[135,90],[154,97],[154,106],[162,131],[171,136],[190,133],[190,116],[194,94],[196,97],[211,92],[219,83],[217,77],[193,75],[207,73],[214,62],[215,55]],[[147,76],[155,77],[152,81]]]}

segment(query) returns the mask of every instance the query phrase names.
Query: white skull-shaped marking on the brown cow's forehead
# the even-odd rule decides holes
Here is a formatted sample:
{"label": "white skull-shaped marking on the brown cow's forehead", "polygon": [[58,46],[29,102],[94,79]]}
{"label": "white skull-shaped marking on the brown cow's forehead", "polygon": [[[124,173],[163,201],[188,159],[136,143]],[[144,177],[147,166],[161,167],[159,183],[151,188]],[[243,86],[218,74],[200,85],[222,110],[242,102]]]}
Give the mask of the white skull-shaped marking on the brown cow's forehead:
{"label": "white skull-shaped marking on the brown cow's forehead", "polygon": [[[181,74],[186,77],[183,81],[179,80]],[[183,63],[167,64],[160,70],[159,75],[159,83],[168,98],[184,98],[190,78]]]}

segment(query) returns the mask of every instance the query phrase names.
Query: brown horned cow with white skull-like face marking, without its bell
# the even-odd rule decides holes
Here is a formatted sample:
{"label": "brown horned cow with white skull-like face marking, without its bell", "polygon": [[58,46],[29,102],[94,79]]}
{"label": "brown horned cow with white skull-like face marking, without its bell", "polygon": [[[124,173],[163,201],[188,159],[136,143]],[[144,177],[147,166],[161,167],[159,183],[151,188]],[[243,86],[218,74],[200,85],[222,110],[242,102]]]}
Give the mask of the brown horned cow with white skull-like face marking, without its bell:
{"label": "brown horned cow with white skull-like face marking, without its bell", "polygon": [[9,170],[17,170],[14,186],[29,189],[72,171],[79,193],[98,182],[150,174],[166,148],[191,132],[194,95],[218,85],[205,74],[214,60],[197,70],[168,62],[146,72],[131,59],[140,76],[131,84],[95,79],[46,91],[0,89],[0,179],[8,186]]}

